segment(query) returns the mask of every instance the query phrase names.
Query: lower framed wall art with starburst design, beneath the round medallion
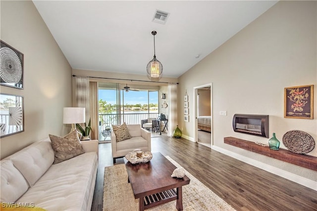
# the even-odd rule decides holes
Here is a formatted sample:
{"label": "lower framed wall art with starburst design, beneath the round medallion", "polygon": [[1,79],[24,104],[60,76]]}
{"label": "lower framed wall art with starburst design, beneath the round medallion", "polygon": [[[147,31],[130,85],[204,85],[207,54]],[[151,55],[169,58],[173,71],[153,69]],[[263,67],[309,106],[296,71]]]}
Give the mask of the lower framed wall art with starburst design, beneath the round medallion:
{"label": "lower framed wall art with starburst design, beneath the round medallion", "polygon": [[0,137],[24,131],[23,97],[0,93]]}

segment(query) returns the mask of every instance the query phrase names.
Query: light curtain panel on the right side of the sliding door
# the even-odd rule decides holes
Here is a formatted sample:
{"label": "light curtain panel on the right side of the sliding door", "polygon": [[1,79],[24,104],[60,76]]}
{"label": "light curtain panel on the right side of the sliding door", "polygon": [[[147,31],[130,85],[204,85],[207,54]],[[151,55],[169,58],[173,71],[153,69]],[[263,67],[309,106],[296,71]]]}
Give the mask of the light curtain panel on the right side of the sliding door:
{"label": "light curtain panel on the right side of the sliding door", "polygon": [[177,84],[168,84],[168,136],[173,136],[177,126]]}

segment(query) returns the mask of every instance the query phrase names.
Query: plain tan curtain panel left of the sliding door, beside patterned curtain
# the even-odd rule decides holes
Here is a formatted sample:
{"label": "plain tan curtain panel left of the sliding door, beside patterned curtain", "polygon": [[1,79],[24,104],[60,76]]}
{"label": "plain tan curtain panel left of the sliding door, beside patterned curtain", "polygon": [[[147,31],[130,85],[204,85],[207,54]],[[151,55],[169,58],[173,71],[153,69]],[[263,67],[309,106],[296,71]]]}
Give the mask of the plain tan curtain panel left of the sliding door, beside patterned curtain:
{"label": "plain tan curtain panel left of the sliding door, beside patterned curtain", "polygon": [[99,118],[98,118],[98,82],[89,82],[90,88],[90,117],[91,117],[91,139],[99,140]]}

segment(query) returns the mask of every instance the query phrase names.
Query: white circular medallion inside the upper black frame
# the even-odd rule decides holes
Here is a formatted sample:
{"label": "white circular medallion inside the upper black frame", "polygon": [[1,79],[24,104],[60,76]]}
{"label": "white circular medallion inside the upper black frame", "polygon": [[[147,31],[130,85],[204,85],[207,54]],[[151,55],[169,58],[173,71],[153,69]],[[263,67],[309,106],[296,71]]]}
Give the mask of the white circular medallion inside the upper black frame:
{"label": "white circular medallion inside the upper black frame", "polygon": [[0,48],[0,75],[4,82],[16,84],[22,77],[22,64],[16,53],[8,48]]}

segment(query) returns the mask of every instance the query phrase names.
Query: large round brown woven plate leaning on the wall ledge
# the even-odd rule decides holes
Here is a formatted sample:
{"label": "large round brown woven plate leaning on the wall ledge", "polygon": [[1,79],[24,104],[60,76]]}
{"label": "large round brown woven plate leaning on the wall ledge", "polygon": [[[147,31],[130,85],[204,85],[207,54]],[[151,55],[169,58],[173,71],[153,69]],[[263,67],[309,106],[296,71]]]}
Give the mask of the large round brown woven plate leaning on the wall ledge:
{"label": "large round brown woven plate leaning on the wall ledge", "polygon": [[314,138],[301,130],[290,130],[283,135],[283,144],[291,152],[306,154],[315,148]]}

